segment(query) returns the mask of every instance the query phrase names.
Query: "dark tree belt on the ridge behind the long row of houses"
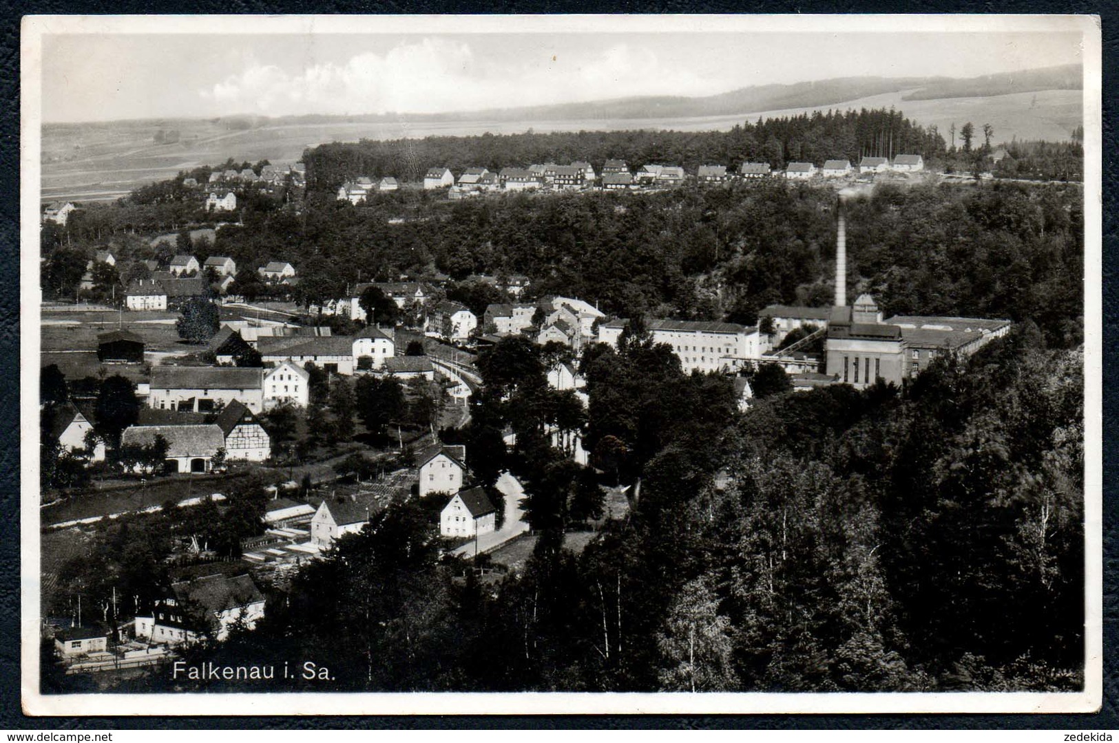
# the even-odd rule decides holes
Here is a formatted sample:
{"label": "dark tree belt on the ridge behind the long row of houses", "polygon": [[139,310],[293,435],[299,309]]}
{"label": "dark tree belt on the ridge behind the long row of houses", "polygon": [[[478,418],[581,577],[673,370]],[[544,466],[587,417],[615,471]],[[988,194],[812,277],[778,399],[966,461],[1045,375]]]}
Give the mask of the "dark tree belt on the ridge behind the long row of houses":
{"label": "dark tree belt on the ridge behind the long row of houses", "polygon": [[897,111],[814,112],[798,116],[759,118],[730,132],[557,132],[551,134],[483,134],[429,136],[422,140],[361,140],[323,144],[303,153],[311,191],[333,191],[358,175],[394,175],[415,181],[429,168],[460,172],[471,166],[490,170],[527,168],[532,163],[590,162],[596,173],[610,159],[631,169],[646,163],[683,165],[688,172],[708,163],[737,168],[743,161],[783,168],[792,161],[822,164],[830,158],[857,163],[863,155],[920,154],[934,160],[946,152],[935,126],[928,128]]}

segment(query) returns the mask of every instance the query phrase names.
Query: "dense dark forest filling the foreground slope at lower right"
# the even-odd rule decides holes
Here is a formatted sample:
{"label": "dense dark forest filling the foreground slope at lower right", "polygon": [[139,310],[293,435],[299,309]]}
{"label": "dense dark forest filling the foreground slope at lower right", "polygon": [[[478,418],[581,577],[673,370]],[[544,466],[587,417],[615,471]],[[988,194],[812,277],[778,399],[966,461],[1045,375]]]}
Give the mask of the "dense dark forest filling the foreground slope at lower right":
{"label": "dense dark forest filling the foreground slope at lower right", "polygon": [[[723,379],[684,375],[639,333],[592,363],[589,425],[624,408],[603,393],[629,397],[646,441],[640,494],[602,539],[562,549],[581,478],[518,441],[509,463],[547,501],[529,506],[539,541],[521,573],[480,583],[440,560],[422,504],[396,504],[302,571],[254,631],[188,663],[313,659],[332,680],[293,688],[316,690],[1081,686],[1078,352],[1025,323],[902,389],[773,394],[746,415]],[[488,385],[525,407],[532,379]],[[656,415],[670,399],[702,401],[698,422]]]}

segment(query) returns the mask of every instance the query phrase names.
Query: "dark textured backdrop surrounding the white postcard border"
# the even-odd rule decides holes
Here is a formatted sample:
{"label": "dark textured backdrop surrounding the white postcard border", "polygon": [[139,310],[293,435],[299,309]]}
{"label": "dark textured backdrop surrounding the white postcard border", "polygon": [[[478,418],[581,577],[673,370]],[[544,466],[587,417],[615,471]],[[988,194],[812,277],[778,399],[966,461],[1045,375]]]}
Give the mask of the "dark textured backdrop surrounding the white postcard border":
{"label": "dark textured backdrop surrounding the white postcard border", "polygon": [[[686,2],[683,0],[430,0],[378,3],[310,3],[298,0],[98,0],[0,2],[0,421],[19,420],[19,23],[23,13],[835,13],[835,12],[921,12],[921,13],[1099,13],[1103,26],[1103,707],[1093,715],[751,715],[751,716],[502,716],[502,717],[26,717],[20,708],[19,685],[19,432],[12,423],[0,428],[0,728],[179,728],[179,727],[274,727],[274,728],[1053,728],[1075,731],[1115,731],[1119,670],[1116,668],[1116,631],[1119,597],[1116,596],[1117,515],[1115,497],[1119,451],[1108,434],[1112,430],[1117,406],[1116,369],[1119,355],[1116,325],[1119,323],[1119,290],[1115,274],[1119,269],[1116,244],[1116,179],[1112,164],[1119,141],[1112,126],[1116,108],[1116,51],[1119,23],[1116,3],[1085,2]],[[1089,267],[1091,269],[1091,267]],[[37,364],[37,359],[26,364]],[[1060,740],[1054,737],[1054,740]]]}

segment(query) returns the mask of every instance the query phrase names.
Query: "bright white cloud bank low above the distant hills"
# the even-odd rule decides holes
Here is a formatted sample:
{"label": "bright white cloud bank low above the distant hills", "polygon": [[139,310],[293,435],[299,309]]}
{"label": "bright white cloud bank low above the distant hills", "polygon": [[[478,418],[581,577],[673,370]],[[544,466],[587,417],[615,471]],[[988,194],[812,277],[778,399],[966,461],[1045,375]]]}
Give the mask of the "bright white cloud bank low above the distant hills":
{"label": "bright white cloud bank low above the distant hills", "polygon": [[298,72],[250,59],[241,73],[200,91],[200,97],[218,113],[438,113],[700,95],[726,87],[724,80],[664,65],[652,49],[627,44],[584,56],[542,42],[520,54],[479,57],[467,42],[426,38]]}

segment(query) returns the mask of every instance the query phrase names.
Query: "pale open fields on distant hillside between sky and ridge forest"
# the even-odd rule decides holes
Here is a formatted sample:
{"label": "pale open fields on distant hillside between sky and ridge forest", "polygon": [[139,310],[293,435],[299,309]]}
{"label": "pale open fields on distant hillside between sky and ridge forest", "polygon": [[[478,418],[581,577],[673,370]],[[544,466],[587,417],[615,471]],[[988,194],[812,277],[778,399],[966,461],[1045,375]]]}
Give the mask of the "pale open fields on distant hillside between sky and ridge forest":
{"label": "pale open fields on distant hillside between sky and ridge forest", "polygon": [[[59,199],[115,199],[132,189],[173,177],[180,170],[267,159],[274,163],[298,161],[305,149],[327,142],[359,139],[419,139],[431,135],[478,135],[536,132],[619,131],[671,128],[685,132],[727,131],[759,116],[797,115],[817,109],[894,106],[910,118],[935,124],[948,136],[949,126],[971,121],[989,123],[996,142],[1018,140],[1068,140],[1082,123],[1080,91],[1041,91],[1010,95],[904,101],[906,91],[857,98],[829,106],[754,111],[724,116],[687,118],[584,118],[567,121],[446,121],[393,123],[276,123],[254,128],[229,128],[222,122],[112,122],[97,124],[47,124],[43,128],[44,201]],[[173,125],[181,132],[176,144],[153,144],[160,128]]]}

